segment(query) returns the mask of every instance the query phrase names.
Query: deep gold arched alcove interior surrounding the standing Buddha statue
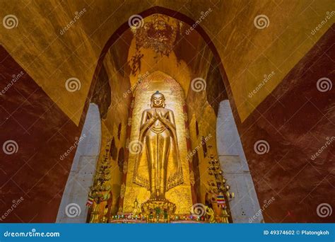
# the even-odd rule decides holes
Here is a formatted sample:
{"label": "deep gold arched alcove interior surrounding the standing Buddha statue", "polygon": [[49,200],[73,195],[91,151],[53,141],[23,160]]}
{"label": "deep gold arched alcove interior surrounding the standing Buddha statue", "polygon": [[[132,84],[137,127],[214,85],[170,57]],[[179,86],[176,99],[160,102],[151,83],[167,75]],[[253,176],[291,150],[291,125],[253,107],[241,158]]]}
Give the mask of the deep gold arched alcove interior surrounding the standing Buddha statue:
{"label": "deep gold arched alcove interior surrounding the standing Buddha statue", "polygon": [[[175,113],[182,161],[183,183],[167,191],[167,199],[177,205],[176,214],[188,214],[197,203],[218,210],[218,190],[210,185],[213,173],[208,169],[211,159],[220,159],[217,119],[228,94],[220,60],[197,30],[185,33],[189,28],[180,19],[153,13],[143,19],[143,28],[124,30],[105,49],[91,100],[101,107],[96,169],[101,171],[106,163],[110,166],[106,177],[112,199],[93,204],[88,221],[129,214],[134,202],[148,200],[149,192],[134,183],[136,156],[129,153],[129,144],[139,139],[141,113],[150,107],[155,91],[164,94],[166,108]],[[224,167],[220,169],[224,172]],[[93,187],[97,184],[93,179]],[[229,221],[234,221],[231,215]]]}

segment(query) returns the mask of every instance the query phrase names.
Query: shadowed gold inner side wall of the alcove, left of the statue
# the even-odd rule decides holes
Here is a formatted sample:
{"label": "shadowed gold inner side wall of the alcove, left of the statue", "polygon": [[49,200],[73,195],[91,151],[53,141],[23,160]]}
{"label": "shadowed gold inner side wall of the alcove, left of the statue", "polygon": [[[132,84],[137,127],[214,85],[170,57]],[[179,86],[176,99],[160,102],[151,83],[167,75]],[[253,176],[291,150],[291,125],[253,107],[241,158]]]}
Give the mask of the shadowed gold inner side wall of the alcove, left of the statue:
{"label": "shadowed gold inner side wall of the alcove, left of the statue", "polygon": [[[126,132],[127,132],[127,121],[129,115],[129,103],[131,95],[124,96],[129,90],[129,78],[124,76],[122,69],[117,68],[116,62],[122,63],[122,59],[127,59],[127,52],[124,53],[122,48],[123,40],[118,40],[110,50],[108,50],[103,60],[103,67],[108,76],[108,83],[102,84],[96,88],[97,93],[104,92],[104,88],[109,85],[112,92],[110,93],[111,100],[110,106],[107,110],[107,115],[102,118],[102,144],[100,148],[100,159],[103,159],[103,155],[108,151],[108,159],[110,161],[110,187],[112,192],[112,204],[110,206],[110,214],[114,215],[119,209],[119,195],[122,185],[122,167],[119,165],[119,159],[122,149],[126,149]],[[122,55],[124,54],[124,58]],[[127,69],[124,67],[124,69]],[[98,95],[98,94],[97,94]],[[100,105],[100,103],[97,103]],[[121,127],[119,132],[119,127]],[[114,139],[114,149],[116,155],[112,158],[111,143]],[[122,161],[120,159],[120,161]],[[124,160],[123,160],[124,162]],[[105,205],[104,205],[105,206]],[[103,208],[104,208],[103,206]]]}

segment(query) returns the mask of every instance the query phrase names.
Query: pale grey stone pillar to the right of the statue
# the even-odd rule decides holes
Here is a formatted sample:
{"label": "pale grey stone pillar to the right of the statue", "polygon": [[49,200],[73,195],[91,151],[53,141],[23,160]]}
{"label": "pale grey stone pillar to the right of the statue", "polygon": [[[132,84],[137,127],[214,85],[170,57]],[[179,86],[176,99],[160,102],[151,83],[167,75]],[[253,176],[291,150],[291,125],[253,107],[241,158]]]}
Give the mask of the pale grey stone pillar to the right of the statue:
{"label": "pale grey stone pillar to the right of the statue", "polygon": [[218,158],[235,198],[228,201],[234,223],[263,222],[254,183],[238,134],[229,100],[223,100],[216,123]]}

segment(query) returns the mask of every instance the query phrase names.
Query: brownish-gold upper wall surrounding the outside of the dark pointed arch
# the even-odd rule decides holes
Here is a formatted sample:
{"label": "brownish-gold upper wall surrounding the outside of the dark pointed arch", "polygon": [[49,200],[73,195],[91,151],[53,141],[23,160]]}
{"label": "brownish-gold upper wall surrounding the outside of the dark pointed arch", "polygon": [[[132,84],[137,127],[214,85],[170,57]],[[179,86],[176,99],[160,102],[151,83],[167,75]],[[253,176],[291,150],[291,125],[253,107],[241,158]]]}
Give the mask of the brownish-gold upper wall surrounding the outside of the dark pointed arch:
{"label": "brownish-gold upper wall surrounding the outside of the dark pointed arch", "polygon": [[[233,98],[245,120],[281,82],[334,23],[331,18],[315,29],[334,9],[331,0],[276,1],[0,1],[0,16],[14,14],[16,28],[0,28],[1,45],[77,125],[102,47],[128,18],[152,6],[180,11],[197,21],[201,11],[211,13],[201,27],[213,40],[223,60]],[[60,31],[85,13],[63,35]],[[254,18],[264,14],[268,28],[259,30]],[[254,98],[248,93],[264,74],[276,75]],[[81,88],[66,91],[65,82],[76,77]],[[173,76],[172,76],[173,77]],[[74,101],[76,100],[76,101]]]}

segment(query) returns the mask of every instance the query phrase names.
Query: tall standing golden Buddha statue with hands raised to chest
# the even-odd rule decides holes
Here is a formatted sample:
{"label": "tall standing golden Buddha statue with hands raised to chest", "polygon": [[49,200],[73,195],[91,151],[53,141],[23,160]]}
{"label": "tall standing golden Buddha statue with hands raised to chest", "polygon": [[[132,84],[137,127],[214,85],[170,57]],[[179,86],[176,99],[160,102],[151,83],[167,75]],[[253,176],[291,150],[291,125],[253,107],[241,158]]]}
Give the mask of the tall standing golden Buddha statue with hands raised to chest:
{"label": "tall standing golden Buddha statue with hands raised to chest", "polygon": [[151,192],[149,201],[167,201],[165,192],[183,183],[175,117],[165,108],[163,93],[151,96],[151,108],[142,113],[133,182]]}

